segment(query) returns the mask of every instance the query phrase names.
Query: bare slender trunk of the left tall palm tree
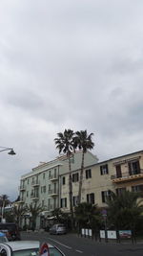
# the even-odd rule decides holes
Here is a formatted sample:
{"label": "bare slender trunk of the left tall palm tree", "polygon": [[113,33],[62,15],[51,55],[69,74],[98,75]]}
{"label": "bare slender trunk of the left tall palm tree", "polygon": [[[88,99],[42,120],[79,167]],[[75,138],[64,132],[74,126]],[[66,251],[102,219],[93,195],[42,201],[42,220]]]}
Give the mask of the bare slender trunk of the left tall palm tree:
{"label": "bare slender trunk of the left tall palm tree", "polygon": [[68,153],[69,159],[69,198],[70,198],[70,211],[72,214],[72,228],[73,228],[73,207],[72,207],[72,168],[71,168],[71,158],[70,153]]}

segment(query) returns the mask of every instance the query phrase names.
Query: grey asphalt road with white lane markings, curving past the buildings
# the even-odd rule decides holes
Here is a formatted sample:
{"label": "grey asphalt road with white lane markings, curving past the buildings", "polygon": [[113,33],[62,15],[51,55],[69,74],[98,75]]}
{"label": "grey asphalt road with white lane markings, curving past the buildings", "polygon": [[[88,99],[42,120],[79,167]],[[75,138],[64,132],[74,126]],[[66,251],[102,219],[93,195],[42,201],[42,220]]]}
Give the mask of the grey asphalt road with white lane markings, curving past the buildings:
{"label": "grey asphalt road with white lane markings, curving past the buildings", "polygon": [[143,244],[105,244],[75,234],[57,236],[48,232],[22,232],[21,237],[22,240],[54,244],[66,256],[143,256]]}

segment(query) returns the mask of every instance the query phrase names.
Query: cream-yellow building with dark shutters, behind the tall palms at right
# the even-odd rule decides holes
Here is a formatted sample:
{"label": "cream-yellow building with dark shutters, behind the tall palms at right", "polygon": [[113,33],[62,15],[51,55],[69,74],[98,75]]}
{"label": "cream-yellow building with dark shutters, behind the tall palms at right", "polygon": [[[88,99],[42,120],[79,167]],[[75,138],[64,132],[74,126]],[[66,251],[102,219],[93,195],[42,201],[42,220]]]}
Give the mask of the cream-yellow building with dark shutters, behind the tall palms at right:
{"label": "cream-yellow building with dark shutters, behind the tall palms at right", "polygon": [[[78,203],[80,170],[72,172],[73,206]],[[69,212],[69,175],[59,175],[61,208]],[[111,192],[143,192],[143,151],[118,156],[107,161],[89,165],[84,169],[81,201],[92,202],[101,208],[107,207],[106,198]]]}

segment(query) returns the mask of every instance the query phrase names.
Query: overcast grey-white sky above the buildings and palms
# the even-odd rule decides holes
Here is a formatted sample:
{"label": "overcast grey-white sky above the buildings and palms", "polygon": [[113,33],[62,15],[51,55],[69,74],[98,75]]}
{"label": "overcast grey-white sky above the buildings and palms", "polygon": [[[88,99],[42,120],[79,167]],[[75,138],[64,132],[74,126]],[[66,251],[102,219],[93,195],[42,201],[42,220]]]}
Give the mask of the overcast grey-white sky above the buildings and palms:
{"label": "overcast grey-white sky above the buildings and palms", "polygon": [[143,150],[143,1],[0,1],[0,195],[57,156],[65,128],[99,160]]}

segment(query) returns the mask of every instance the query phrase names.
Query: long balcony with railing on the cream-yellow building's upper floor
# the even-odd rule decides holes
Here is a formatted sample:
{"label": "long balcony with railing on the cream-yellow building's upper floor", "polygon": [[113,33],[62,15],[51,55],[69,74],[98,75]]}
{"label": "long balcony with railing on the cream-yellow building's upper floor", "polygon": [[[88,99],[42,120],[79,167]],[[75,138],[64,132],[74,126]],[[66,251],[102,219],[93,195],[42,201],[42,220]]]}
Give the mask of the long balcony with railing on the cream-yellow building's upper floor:
{"label": "long balcony with railing on the cream-yellow building's upper floor", "polygon": [[127,173],[122,173],[121,176],[118,175],[112,175],[111,179],[112,179],[112,183],[119,183],[119,182],[128,182],[128,181],[132,181],[135,179],[139,179],[139,178],[143,178],[143,169],[139,170],[139,174],[129,174],[129,172]]}

